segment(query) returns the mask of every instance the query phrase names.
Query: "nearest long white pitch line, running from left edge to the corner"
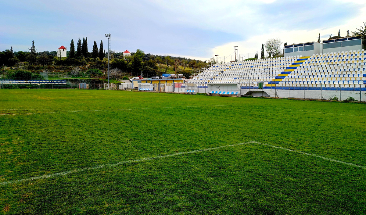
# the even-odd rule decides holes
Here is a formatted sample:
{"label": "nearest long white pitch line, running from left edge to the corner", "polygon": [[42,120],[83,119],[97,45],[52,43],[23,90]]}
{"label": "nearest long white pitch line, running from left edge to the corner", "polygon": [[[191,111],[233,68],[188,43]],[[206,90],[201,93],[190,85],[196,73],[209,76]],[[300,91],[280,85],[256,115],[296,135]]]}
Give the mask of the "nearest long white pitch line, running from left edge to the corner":
{"label": "nearest long white pitch line, running from left edge to the corner", "polygon": [[187,151],[187,152],[178,152],[178,153],[169,154],[169,155],[160,155],[160,156],[154,156],[154,157],[149,157],[149,158],[141,158],[141,159],[137,159],[137,160],[122,161],[122,162],[119,162],[119,163],[109,163],[109,164],[105,164],[105,165],[92,166],[92,167],[87,167],[87,168],[82,168],[82,169],[74,169],[74,170],[71,170],[71,171],[60,172],[60,173],[55,173],[55,174],[49,174],[49,175],[44,175],[44,176],[29,177],[29,178],[14,180],[14,181],[3,181],[3,182],[0,183],[0,185],[15,184],[15,183],[24,182],[24,181],[45,179],[45,178],[51,178],[51,177],[55,177],[55,176],[64,176],[64,175],[67,175],[67,174],[78,173],[78,172],[83,172],[83,171],[87,171],[87,170],[94,170],[94,169],[101,169],[101,168],[104,168],[104,167],[119,166],[119,165],[127,164],[127,163],[137,163],[137,162],[151,161],[151,160],[155,160],[155,159],[167,158],[167,157],[172,157],[172,156],[177,156],[177,155],[194,154],[194,153],[198,153],[198,152],[211,151],[211,150],[217,150],[217,149],[220,149],[220,148],[240,146],[240,145],[249,144],[249,143],[256,143],[256,142],[238,143],[238,144],[219,146],[219,147],[214,147],[214,148],[199,149],[199,150],[193,150],[193,151]]}

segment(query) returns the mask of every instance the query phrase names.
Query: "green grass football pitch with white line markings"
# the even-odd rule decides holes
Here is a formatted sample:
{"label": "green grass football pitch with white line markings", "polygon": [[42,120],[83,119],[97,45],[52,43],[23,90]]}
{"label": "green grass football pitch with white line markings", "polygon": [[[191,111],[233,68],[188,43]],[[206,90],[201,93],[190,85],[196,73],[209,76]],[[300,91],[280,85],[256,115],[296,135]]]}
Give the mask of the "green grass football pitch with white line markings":
{"label": "green grass football pitch with white line markings", "polygon": [[365,108],[0,90],[0,211],[366,214]]}

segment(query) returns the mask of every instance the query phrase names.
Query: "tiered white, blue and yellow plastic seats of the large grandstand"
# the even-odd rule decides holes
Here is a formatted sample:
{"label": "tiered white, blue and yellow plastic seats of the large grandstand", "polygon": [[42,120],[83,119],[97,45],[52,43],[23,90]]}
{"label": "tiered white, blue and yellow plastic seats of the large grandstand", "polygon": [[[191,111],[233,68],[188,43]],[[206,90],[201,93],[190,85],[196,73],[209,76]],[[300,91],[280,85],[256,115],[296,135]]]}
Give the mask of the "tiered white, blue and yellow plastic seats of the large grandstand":
{"label": "tiered white, blue and yellow plastic seats of the large grandstand", "polygon": [[292,56],[215,64],[196,75],[188,83],[257,84],[352,84],[366,83],[366,52],[354,50],[322,53],[309,57]]}

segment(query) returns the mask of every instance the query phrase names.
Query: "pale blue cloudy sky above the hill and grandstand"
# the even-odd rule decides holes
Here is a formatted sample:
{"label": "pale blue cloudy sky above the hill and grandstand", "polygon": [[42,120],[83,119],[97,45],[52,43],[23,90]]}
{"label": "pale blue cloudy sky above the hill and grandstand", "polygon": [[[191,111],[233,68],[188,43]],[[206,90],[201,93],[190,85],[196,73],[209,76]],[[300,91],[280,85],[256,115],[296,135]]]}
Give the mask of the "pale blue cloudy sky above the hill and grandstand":
{"label": "pale blue cloudy sky above the hill and grandstand", "polygon": [[70,49],[71,39],[108,49],[219,61],[253,57],[270,38],[302,43],[366,22],[365,0],[0,0],[0,50]]}

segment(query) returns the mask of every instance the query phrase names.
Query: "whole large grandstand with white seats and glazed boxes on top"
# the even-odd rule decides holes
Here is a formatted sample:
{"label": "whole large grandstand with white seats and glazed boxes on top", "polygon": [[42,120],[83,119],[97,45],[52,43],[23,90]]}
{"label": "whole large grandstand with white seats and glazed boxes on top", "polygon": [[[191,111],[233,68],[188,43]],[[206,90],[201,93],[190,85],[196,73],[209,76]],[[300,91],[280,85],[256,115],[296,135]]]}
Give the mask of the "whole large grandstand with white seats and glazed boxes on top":
{"label": "whole large grandstand with white seats and glazed boxes on top", "polygon": [[[328,50],[334,52],[319,53]],[[304,90],[305,87],[306,90],[366,90],[366,52],[360,38],[295,44],[285,46],[284,52],[284,57],[278,58],[217,63],[195,74],[188,83],[197,84],[198,89],[214,83],[221,86],[238,83],[241,95],[248,95],[248,90],[262,90],[270,97],[276,96],[277,90]],[[304,53],[311,55],[303,56]],[[225,95],[219,87],[199,92]]]}

